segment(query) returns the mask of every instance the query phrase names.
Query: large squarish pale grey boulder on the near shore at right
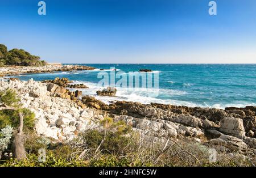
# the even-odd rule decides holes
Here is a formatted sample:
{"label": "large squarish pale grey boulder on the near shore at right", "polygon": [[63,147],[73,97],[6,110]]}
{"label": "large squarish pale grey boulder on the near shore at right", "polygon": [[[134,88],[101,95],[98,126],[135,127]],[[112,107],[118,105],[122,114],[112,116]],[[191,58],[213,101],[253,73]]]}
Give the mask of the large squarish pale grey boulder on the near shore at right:
{"label": "large squarish pale grey boulder on the near shore at right", "polygon": [[220,122],[220,132],[242,138],[245,136],[243,120],[235,117],[225,117]]}

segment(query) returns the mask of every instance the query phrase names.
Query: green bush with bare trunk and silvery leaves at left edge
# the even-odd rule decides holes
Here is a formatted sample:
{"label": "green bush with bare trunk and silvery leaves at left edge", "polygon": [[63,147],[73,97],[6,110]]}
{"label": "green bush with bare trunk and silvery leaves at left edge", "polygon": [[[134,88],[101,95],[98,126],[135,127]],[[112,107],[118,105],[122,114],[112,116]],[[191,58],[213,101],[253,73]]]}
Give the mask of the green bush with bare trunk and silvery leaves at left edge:
{"label": "green bush with bare trunk and silvery leaves at left edge", "polygon": [[0,159],[4,151],[18,160],[27,158],[23,130],[34,128],[35,115],[18,101],[13,90],[0,91]]}

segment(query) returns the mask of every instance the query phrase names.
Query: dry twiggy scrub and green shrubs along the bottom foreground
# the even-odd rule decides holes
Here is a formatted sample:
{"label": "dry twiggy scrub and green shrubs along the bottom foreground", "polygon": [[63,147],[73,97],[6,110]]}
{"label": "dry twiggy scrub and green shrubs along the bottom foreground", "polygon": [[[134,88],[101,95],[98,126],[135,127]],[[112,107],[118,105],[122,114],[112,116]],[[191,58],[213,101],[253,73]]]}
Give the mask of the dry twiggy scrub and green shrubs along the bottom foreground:
{"label": "dry twiggy scrub and green shrubs along the bottom foreground", "polygon": [[[170,145],[158,142],[155,136],[141,137],[122,121],[106,117],[101,129],[80,133],[73,141],[49,142],[36,134],[25,137],[27,159],[9,158],[0,166],[252,166],[247,156],[228,157],[224,147],[217,150],[217,162],[209,162],[209,149],[191,140],[175,141]],[[32,132],[32,131],[31,131]],[[44,140],[43,140],[44,139]],[[167,149],[164,149],[167,148]],[[38,150],[45,149],[44,161]],[[1,164],[2,163],[2,164]]]}

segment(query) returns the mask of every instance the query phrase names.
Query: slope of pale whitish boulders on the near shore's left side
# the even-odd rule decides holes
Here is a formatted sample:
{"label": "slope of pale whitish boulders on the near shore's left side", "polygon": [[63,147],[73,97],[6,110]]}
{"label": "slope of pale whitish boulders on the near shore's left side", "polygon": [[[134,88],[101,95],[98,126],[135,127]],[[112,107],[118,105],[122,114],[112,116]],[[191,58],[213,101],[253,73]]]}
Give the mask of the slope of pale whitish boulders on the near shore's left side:
{"label": "slope of pale whitish boulders on the near shore's left side", "polygon": [[[48,85],[53,86],[49,91]],[[104,118],[98,115],[97,111],[81,108],[70,99],[53,96],[52,94],[58,90],[66,92],[65,88],[60,88],[56,84],[33,80],[0,82],[1,91],[7,88],[13,88],[20,97],[23,107],[35,113],[35,130],[44,137],[58,141],[70,140],[76,137],[77,133],[96,127],[97,120]]]}

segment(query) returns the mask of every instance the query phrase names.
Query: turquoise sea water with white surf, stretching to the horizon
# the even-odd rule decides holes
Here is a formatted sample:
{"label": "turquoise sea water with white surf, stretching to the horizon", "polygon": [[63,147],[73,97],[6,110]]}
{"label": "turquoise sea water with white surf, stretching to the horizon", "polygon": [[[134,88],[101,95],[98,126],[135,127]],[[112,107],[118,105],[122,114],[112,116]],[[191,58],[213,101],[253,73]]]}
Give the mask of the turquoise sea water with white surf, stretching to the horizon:
{"label": "turquoise sea water with white surf, stretching to the horizon", "polygon": [[[71,71],[45,74],[26,74],[18,76],[21,80],[54,79],[66,77],[75,83],[85,83],[89,89],[82,90],[84,95],[96,96],[108,103],[113,100],[139,101],[141,103],[164,103],[199,107],[225,108],[256,105],[256,65],[229,64],[80,64],[117,71],[138,71],[151,69],[159,75],[158,96],[154,88],[144,91],[128,92],[126,88],[117,87],[117,97],[101,97],[96,91],[101,87],[97,83],[99,70]],[[106,71],[110,73],[110,70]],[[116,79],[118,80],[118,79]]]}

